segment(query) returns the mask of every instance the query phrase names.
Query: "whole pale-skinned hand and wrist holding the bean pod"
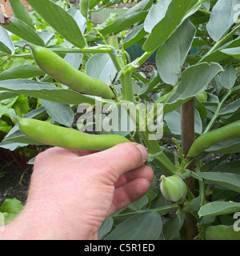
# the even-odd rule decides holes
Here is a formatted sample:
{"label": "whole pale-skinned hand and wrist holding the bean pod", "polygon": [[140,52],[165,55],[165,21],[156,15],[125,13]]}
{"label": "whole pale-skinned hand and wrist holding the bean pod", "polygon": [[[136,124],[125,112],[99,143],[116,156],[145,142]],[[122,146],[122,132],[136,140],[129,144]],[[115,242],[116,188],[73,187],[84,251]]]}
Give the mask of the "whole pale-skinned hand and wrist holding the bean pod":
{"label": "whole pale-skinned hand and wrist holding the bean pod", "polygon": [[105,218],[146,194],[154,177],[146,148],[102,152],[54,147],[38,154],[26,204],[0,239],[98,239]]}

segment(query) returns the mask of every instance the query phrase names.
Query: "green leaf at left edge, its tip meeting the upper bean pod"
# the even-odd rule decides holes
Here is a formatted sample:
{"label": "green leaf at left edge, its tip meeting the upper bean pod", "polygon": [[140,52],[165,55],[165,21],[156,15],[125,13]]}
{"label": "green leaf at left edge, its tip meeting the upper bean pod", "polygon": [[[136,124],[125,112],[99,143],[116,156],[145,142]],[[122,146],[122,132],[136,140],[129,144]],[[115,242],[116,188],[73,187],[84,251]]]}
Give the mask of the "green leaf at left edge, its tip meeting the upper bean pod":
{"label": "green leaf at left edge, its tip meeting the upper bean pod", "polygon": [[36,65],[15,66],[0,73],[0,81],[17,78],[34,78],[45,74]]}

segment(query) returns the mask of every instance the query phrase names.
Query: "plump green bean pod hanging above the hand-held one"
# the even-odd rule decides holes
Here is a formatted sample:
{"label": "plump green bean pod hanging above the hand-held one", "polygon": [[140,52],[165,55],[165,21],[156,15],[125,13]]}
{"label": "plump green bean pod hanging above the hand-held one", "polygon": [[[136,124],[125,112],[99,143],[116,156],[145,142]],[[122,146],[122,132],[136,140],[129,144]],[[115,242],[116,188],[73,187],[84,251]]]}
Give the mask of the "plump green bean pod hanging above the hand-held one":
{"label": "plump green bean pod hanging above the hand-held one", "polygon": [[113,91],[105,82],[91,78],[87,74],[75,69],[74,66],[71,66],[53,51],[42,46],[26,45],[30,47],[39,68],[56,81],[83,94],[101,96],[107,99],[115,98]]}

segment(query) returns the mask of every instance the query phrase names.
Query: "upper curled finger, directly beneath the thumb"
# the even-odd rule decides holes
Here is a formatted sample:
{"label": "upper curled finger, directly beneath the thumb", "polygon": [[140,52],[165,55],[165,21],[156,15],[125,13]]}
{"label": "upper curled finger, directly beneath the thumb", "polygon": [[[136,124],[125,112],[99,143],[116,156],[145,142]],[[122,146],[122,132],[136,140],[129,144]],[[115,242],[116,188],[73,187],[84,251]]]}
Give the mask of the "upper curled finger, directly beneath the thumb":
{"label": "upper curled finger, directly beneath the thumb", "polygon": [[127,182],[130,182],[136,178],[146,178],[149,182],[154,178],[154,171],[150,166],[140,166],[137,169],[130,170],[125,174],[122,174],[118,181],[115,183],[115,188],[123,186]]}

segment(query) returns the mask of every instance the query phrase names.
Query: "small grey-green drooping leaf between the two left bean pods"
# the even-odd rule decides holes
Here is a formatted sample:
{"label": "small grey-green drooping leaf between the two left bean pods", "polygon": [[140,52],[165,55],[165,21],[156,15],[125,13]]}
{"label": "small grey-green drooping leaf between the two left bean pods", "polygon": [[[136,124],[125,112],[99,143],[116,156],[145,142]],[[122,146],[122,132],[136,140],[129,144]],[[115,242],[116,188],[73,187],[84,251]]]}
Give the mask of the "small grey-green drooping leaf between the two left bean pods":
{"label": "small grey-green drooping leaf between the two left bean pods", "polygon": [[63,126],[71,126],[74,122],[74,113],[71,110],[70,105],[50,102],[43,99],[41,99],[40,102],[42,106],[45,107],[46,113],[56,122]]}

